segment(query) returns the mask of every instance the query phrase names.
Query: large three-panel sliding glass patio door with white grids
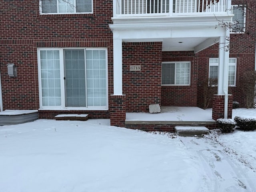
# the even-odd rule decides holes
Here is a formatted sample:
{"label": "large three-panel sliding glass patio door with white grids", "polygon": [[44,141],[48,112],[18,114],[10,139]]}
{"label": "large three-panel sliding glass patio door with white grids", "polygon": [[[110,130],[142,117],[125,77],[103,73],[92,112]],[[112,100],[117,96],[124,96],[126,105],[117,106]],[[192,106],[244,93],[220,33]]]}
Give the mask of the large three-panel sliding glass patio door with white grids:
{"label": "large three-panel sliding glass patio door with white grids", "polygon": [[106,49],[38,49],[40,108],[107,108]]}

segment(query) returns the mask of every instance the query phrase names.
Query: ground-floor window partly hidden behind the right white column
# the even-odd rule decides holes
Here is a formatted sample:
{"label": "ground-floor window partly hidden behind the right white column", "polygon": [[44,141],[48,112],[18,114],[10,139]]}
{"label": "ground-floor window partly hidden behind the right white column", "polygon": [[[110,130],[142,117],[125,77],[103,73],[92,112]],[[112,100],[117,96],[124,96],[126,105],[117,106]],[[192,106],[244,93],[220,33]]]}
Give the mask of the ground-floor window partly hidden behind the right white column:
{"label": "ground-floor window partly hidden behind the right white column", "polygon": [[[219,59],[210,58],[209,60],[209,78],[218,79]],[[228,85],[236,86],[236,58],[229,58],[228,63]]]}

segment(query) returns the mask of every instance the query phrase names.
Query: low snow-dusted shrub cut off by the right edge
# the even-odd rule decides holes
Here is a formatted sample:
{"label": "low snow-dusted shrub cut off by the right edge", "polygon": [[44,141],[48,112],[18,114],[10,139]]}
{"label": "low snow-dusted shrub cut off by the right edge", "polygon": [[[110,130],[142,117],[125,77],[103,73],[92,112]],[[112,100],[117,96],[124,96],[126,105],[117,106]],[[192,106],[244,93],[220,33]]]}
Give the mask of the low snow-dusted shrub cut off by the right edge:
{"label": "low snow-dusted shrub cut off by the right edge", "polygon": [[252,131],[256,129],[256,119],[255,118],[245,118],[236,116],[234,118],[236,125],[244,131]]}

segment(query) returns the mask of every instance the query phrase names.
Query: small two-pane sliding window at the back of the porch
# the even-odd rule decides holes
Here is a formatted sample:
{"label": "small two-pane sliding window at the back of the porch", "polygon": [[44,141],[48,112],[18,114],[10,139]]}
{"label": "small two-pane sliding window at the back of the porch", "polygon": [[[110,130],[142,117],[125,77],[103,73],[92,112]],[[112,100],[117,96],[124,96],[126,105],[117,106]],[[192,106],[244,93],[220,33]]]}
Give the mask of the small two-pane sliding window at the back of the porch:
{"label": "small two-pane sliding window at the back of the porch", "polygon": [[190,62],[162,63],[162,85],[190,85]]}

